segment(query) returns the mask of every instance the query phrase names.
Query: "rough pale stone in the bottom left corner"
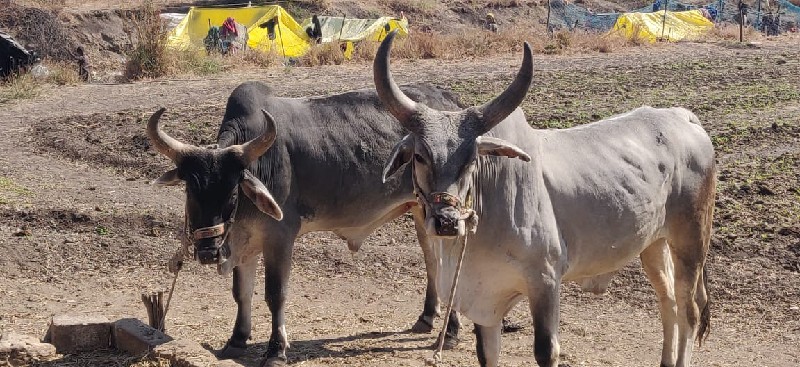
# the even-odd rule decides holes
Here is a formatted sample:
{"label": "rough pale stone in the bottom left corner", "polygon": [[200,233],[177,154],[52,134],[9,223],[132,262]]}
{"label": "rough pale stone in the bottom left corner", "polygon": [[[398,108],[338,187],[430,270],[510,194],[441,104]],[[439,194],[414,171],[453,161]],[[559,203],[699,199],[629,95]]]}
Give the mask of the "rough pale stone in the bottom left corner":
{"label": "rough pale stone in the bottom left corner", "polygon": [[16,333],[0,335],[0,366],[30,366],[58,357],[56,347]]}

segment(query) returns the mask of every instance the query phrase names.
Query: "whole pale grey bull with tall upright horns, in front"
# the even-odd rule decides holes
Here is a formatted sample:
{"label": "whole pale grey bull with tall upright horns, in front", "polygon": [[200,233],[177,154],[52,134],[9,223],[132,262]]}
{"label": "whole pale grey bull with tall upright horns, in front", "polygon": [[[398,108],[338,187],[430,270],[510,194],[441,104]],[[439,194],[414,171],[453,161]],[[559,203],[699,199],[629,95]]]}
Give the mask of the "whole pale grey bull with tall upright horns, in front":
{"label": "whole pale grey bull with tall upright horns, in front", "polygon": [[523,297],[536,362],[557,366],[561,282],[599,279],[602,289],[636,256],[661,307],[661,365],[688,366],[710,319],[704,264],[716,182],[714,149],[697,117],[644,107],[572,129],[533,129],[518,107],[533,77],[527,43],[500,96],[437,110],[392,80],[393,37],[375,57],[375,86],[410,134],[384,174],[411,162],[443,299],[466,236],[453,309],[476,324],[481,366],[498,365],[501,318]]}

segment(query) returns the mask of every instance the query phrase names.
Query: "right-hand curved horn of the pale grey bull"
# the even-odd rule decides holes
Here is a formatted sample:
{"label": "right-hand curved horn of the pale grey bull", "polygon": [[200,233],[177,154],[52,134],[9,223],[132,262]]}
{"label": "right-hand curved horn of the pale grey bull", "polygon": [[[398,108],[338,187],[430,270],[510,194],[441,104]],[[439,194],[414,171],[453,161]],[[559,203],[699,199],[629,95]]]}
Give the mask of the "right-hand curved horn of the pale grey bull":
{"label": "right-hand curved horn of the pale grey bull", "polygon": [[519,107],[525,99],[525,94],[528,93],[532,80],[533,56],[531,55],[531,46],[525,42],[522,66],[520,66],[514,81],[502,94],[479,107],[484,117],[484,133],[491,130]]}

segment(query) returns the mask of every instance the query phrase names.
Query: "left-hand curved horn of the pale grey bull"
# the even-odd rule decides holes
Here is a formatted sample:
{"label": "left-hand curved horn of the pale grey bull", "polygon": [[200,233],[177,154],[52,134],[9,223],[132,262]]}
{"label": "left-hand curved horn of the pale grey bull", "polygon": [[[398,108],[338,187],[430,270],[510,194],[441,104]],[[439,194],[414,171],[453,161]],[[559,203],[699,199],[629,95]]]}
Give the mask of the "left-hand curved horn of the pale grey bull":
{"label": "left-hand curved horn of the pale grey bull", "polygon": [[389,33],[381,42],[372,65],[372,73],[375,79],[375,89],[378,91],[381,101],[403,127],[412,130],[407,122],[408,118],[416,111],[417,103],[400,90],[389,71],[389,51],[392,48],[395,34],[397,34],[397,30]]}

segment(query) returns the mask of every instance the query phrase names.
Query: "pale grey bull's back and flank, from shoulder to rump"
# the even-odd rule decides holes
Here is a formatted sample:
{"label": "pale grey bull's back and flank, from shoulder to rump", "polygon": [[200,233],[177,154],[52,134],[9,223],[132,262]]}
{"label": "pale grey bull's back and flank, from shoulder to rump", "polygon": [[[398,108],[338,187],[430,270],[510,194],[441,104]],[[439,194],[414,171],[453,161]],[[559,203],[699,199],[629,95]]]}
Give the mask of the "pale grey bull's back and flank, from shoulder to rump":
{"label": "pale grey bull's back and flank, from shoulder to rump", "polygon": [[616,270],[662,237],[714,165],[708,134],[682,108],[644,107],[538,135],[568,278]]}

